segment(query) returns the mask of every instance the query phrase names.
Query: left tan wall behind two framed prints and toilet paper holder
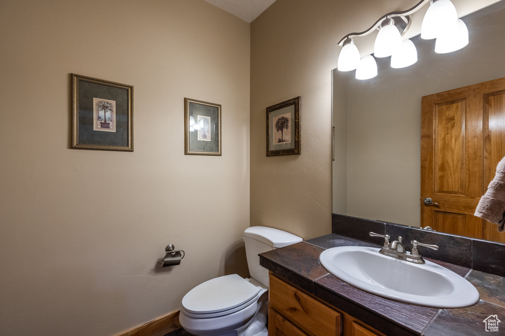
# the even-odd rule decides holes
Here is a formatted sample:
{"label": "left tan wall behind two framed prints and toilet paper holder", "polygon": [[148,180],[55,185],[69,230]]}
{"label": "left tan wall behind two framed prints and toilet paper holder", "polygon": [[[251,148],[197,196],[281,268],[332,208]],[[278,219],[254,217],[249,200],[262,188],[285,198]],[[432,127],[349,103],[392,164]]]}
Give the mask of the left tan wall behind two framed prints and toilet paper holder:
{"label": "left tan wall behind two framed prints and toilet paper holder", "polygon": [[[249,28],[203,0],[0,2],[1,335],[112,335],[247,275]],[[69,149],[70,73],[134,86],[133,153]],[[222,157],[184,155],[184,97],[222,104]]]}

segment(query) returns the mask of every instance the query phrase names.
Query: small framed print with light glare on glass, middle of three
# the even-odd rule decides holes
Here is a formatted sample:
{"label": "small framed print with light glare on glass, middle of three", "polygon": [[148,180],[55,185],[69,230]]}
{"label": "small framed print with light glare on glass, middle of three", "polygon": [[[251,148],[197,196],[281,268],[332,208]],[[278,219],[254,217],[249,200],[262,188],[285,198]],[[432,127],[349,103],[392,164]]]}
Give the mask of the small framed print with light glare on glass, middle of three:
{"label": "small framed print with light glare on glass, middle of three", "polygon": [[184,154],[221,156],[221,105],[184,98]]}

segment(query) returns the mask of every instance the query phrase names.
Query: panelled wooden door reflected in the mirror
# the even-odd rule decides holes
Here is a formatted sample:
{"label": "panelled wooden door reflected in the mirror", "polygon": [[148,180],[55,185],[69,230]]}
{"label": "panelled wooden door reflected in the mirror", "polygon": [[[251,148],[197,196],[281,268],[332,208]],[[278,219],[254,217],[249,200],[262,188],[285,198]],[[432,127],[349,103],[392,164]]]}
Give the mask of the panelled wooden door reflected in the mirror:
{"label": "panelled wooden door reflected in the mirror", "polygon": [[421,223],[505,242],[505,232],[474,216],[503,156],[505,78],[423,97]]}

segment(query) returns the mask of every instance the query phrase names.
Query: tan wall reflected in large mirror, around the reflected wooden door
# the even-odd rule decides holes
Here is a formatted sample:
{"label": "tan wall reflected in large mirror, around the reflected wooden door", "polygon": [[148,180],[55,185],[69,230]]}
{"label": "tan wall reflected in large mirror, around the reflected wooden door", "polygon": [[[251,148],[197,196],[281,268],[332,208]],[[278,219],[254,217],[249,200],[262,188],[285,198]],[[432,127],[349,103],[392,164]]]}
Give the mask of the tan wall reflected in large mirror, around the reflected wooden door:
{"label": "tan wall reflected in large mirror, around the reflected wooden door", "polygon": [[[462,19],[470,43],[459,51],[436,54],[434,40],[416,36],[419,61],[409,68],[392,69],[386,57],[370,80],[333,71],[333,213],[431,225],[421,223],[421,98],[505,77],[505,1]],[[477,238],[505,242],[505,233]]]}

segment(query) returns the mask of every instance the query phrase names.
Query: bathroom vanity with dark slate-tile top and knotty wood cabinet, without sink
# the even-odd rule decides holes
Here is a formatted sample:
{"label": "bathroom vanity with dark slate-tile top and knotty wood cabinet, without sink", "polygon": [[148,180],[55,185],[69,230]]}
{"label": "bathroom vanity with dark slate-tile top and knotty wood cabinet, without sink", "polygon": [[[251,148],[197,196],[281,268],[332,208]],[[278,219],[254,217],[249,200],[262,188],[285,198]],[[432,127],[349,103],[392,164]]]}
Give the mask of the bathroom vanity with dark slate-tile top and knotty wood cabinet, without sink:
{"label": "bathroom vanity with dark slate-tile top and knotty wood cabinet, without sink", "polygon": [[[447,240],[451,244],[450,237]],[[505,317],[505,278],[500,275],[431,259],[472,283],[480,301],[458,309],[416,306],[367,293],[329,274],[319,256],[336,246],[379,247],[333,233],[260,254],[261,264],[270,271],[269,334],[479,335],[487,334],[484,319],[488,316]],[[505,325],[499,328],[495,334],[504,334]]]}

